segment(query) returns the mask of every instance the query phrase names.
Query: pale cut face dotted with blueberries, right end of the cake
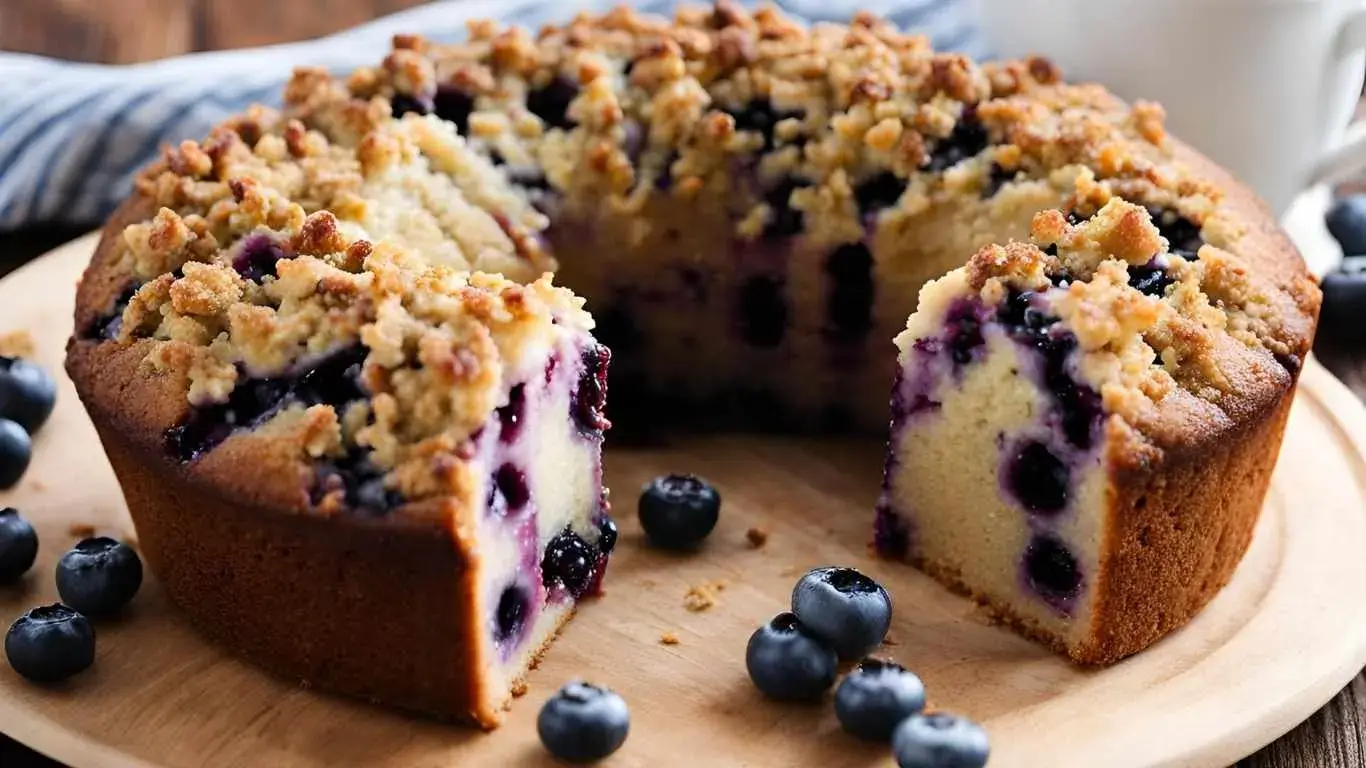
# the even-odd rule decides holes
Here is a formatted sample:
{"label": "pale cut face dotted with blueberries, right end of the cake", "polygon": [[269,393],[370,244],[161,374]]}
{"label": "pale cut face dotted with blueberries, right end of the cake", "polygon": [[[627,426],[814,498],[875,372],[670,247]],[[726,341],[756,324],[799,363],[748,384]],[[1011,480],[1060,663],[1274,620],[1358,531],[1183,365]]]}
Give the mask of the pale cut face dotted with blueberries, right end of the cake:
{"label": "pale cut face dotted with blueberries, right end of the cake", "polygon": [[892,404],[877,548],[1068,648],[1089,633],[1106,525],[1098,395],[1048,295],[926,288]]}

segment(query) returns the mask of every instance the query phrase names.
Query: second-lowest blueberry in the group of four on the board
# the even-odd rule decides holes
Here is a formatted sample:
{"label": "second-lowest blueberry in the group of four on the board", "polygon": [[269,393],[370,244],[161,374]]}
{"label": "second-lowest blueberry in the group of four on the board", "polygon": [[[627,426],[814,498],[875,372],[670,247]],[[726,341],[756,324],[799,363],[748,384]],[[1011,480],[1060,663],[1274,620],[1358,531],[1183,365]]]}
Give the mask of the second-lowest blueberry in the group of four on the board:
{"label": "second-lowest blueberry in the group of four on the board", "polygon": [[835,689],[835,716],[861,739],[892,741],[902,720],[925,709],[925,683],[900,664],[865,659]]}

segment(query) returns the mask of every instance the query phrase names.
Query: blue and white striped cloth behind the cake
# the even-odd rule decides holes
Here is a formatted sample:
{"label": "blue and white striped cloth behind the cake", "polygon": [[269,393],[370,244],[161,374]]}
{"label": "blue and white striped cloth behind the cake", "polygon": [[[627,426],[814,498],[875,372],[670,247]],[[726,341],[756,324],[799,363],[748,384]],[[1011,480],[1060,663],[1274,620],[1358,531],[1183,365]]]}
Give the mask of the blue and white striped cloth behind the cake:
{"label": "blue and white striped cloth behind the cake", "polygon": [[[452,41],[467,19],[537,27],[620,0],[445,0],[290,45],[98,66],[0,53],[0,232],[37,223],[92,224],[131,190],[161,145],[201,138],[253,102],[279,105],[299,64],[346,72],[373,64],[399,31]],[[962,0],[781,0],[807,20],[847,20],[855,7],[928,34],[937,48],[985,53]],[[672,0],[635,3],[667,14]]]}

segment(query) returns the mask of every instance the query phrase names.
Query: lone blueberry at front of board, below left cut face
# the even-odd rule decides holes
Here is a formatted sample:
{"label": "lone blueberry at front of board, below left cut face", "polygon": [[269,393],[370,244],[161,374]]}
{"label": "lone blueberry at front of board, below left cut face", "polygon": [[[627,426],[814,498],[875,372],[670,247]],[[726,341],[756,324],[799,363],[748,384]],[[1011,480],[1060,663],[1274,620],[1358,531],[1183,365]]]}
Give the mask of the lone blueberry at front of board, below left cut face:
{"label": "lone blueberry at front of board, below left cut face", "polygon": [[541,707],[535,731],[550,754],[567,763],[594,763],[622,748],[631,712],[619,694],[571,682]]}

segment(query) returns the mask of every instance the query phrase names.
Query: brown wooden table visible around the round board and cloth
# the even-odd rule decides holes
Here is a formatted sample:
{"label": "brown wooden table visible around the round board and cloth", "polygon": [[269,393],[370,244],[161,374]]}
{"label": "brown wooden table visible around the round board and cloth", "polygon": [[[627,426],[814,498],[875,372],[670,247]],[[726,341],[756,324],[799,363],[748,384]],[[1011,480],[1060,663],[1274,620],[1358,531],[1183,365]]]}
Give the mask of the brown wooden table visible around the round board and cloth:
{"label": "brown wooden table visible around the round board and cloth", "polygon": [[[141,61],[305,40],[421,1],[0,0],[0,49],[83,61]],[[0,276],[85,230],[42,227],[0,234]],[[1366,348],[1320,343],[1314,351],[1354,392],[1366,398]],[[4,735],[0,735],[0,765],[57,767]],[[1366,768],[1366,676],[1359,675],[1310,720],[1239,763],[1239,768]]]}

